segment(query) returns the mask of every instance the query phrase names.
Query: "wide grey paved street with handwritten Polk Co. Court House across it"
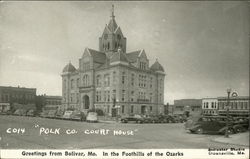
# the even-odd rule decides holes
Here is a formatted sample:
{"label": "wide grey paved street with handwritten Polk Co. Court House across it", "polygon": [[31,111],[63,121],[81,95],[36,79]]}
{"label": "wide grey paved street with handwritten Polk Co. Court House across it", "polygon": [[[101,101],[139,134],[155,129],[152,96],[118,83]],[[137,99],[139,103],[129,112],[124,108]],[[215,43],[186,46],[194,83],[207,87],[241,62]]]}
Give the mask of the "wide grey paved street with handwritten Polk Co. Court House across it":
{"label": "wide grey paved street with handwritten Polk Co. Court House across it", "polygon": [[[2,149],[169,149],[234,147],[212,141],[220,135],[190,134],[183,123],[86,123],[0,115]],[[235,146],[239,147],[239,146]]]}

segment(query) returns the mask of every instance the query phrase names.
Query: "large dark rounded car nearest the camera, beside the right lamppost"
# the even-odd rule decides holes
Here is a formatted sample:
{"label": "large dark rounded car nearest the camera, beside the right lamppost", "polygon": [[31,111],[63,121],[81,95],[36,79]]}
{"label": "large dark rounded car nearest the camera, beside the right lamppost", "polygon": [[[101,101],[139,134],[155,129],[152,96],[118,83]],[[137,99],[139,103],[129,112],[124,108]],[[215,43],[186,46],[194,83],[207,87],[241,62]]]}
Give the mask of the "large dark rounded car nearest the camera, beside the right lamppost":
{"label": "large dark rounded car nearest the camera, beside the right lamppost", "polygon": [[233,134],[235,132],[233,120],[230,119],[229,127],[227,127],[226,120],[226,117],[222,116],[200,117],[187,129],[191,133],[197,134],[225,134],[226,131],[228,131],[229,134]]}

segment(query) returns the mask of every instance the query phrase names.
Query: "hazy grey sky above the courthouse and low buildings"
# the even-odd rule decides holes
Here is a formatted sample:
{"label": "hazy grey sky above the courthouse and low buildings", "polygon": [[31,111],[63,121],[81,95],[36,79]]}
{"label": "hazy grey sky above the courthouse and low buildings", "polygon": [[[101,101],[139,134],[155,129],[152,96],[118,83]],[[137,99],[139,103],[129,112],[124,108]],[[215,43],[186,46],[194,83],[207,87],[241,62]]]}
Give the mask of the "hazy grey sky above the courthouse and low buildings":
{"label": "hazy grey sky above the courthouse and low buildings", "polygon": [[127,52],[144,49],[165,69],[165,103],[249,95],[247,2],[0,2],[0,85],[61,95],[61,72],[98,50],[111,5]]}

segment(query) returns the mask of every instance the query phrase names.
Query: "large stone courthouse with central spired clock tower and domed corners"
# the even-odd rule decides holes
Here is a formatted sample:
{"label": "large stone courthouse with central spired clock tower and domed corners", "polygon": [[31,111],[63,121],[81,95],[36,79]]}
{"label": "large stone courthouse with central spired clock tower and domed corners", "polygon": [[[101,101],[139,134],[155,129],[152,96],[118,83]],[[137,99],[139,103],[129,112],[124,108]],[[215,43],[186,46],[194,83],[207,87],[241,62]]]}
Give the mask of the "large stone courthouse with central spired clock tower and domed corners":
{"label": "large stone courthouse with central spired clock tower and domed corners", "polygon": [[158,114],[163,111],[165,72],[159,61],[149,65],[145,50],[126,51],[127,39],[114,9],[99,38],[99,50],[86,48],[79,67],[68,63],[62,76],[62,105],[111,115]]}

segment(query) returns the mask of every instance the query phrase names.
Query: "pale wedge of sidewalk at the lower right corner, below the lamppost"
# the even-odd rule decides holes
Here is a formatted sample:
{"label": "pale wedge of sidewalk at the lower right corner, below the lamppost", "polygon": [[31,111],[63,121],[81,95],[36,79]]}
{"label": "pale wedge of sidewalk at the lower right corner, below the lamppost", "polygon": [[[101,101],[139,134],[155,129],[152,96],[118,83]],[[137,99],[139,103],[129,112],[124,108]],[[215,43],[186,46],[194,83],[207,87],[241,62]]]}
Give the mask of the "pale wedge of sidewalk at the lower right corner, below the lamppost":
{"label": "pale wedge of sidewalk at the lower right corner, below the lamppost", "polygon": [[229,138],[221,136],[213,139],[213,141],[249,147],[249,131],[244,133],[229,135]]}

